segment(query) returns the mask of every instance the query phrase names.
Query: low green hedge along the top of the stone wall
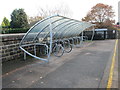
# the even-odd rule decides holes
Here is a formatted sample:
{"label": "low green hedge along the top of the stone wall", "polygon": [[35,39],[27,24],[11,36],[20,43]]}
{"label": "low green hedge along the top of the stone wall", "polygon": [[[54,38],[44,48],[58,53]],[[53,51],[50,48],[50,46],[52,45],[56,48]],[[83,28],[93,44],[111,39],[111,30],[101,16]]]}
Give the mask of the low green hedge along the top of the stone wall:
{"label": "low green hedge along the top of the stone wall", "polygon": [[2,34],[12,34],[12,33],[26,33],[29,30],[29,28],[15,28],[15,29],[5,29],[2,30]]}

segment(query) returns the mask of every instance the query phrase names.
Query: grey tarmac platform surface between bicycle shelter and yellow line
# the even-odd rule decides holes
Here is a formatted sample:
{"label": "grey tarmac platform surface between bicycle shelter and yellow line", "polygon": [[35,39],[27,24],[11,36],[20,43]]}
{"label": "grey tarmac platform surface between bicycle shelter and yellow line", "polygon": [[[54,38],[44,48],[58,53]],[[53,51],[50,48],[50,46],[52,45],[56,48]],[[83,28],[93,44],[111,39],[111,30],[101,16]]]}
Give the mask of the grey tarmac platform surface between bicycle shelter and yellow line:
{"label": "grey tarmac platform surface between bicycle shelter and yellow line", "polygon": [[[4,69],[3,88],[106,88],[115,40],[94,41],[74,48],[49,64],[27,60],[16,69]],[[34,61],[32,63],[32,61]],[[23,62],[23,61],[21,61]],[[17,66],[17,65],[16,65]]]}

